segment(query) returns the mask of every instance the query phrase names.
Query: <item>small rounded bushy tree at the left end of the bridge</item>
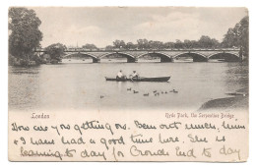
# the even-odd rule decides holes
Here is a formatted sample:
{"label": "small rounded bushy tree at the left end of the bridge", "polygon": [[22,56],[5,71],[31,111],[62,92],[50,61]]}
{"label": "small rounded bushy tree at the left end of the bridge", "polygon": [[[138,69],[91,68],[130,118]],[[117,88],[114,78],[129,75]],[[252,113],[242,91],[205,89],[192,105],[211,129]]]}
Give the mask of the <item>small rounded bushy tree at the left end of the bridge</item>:
{"label": "small rounded bushy tree at the left end of the bridge", "polygon": [[61,56],[64,55],[64,51],[67,47],[61,43],[55,43],[45,48],[46,54],[50,55],[52,60],[60,61]]}

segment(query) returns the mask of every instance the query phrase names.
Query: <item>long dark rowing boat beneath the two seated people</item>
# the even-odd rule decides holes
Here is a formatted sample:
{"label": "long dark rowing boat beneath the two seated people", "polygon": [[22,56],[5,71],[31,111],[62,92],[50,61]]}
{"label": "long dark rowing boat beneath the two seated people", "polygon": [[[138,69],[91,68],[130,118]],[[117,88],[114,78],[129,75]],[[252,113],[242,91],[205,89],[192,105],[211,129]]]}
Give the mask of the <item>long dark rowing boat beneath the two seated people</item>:
{"label": "long dark rowing boat beneath the two seated people", "polygon": [[116,79],[116,78],[107,78],[105,77],[106,81],[113,81],[113,82],[167,82],[170,77],[157,77],[157,78],[133,78],[133,79]]}

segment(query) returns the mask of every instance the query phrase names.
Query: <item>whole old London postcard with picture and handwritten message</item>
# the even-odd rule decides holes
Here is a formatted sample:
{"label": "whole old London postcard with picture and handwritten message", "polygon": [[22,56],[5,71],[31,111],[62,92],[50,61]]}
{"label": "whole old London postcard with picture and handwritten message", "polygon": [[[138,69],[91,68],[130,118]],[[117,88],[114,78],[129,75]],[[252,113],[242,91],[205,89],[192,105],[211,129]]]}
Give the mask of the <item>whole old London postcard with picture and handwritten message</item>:
{"label": "whole old London postcard with picture and handwritten message", "polygon": [[245,7],[10,7],[10,161],[244,162]]}

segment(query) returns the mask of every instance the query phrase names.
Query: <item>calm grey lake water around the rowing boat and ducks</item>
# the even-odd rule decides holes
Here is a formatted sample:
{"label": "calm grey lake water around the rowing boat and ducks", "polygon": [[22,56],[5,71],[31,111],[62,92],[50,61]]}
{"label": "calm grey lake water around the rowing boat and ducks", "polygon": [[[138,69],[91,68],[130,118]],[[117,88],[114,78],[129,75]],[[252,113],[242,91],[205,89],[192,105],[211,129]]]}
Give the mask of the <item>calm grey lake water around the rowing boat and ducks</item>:
{"label": "calm grey lake water around the rowing boat and ducks", "polygon": [[[227,92],[247,86],[248,67],[241,63],[113,63],[9,67],[9,108],[63,109],[192,109]],[[106,82],[122,70],[142,77],[171,76],[169,83]],[[137,90],[139,93],[134,94]],[[169,92],[176,89],[178,93]],[[160,92],[159,96],[153,94]],[[161,93],[164,92],[164,93]],[[167,93],[165,93],[167,91]],[[150,93],[149,96],[143,94]],[[103,96],[103,98],[100,98]]]}

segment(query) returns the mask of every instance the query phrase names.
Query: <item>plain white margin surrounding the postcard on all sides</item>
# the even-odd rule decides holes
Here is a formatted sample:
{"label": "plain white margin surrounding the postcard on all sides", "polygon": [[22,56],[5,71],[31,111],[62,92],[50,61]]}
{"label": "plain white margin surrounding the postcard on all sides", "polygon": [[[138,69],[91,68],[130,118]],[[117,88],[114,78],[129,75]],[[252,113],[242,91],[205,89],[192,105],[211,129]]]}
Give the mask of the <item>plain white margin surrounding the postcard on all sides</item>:
{"label": "plain white margin surrounding the postcard on all sides", "polygon": [[[250,17],[250,153],[249,159],[246,163],[238,163],[238,164],[226,164],[226,163],[178,163],[178,162],[168,162],[168,163],[85,163],[85,162],[66,162],[66,163],[35,163],[35,162],[9,162],[8,161],[8,148],[7,148],[7,126],[8,126],[8,7],[9,6],[199,6],[199,7],[247,7],[249,9],[249,17]],[[196,166],[199,168],[208,168],[216,167],[216,166],[224,166],[224,167],[256,167],[256,108],[253,100],[255,99],[255,67],[253,63],[255,62],[256,53],[255,53],[255,6],[253,0],[11,0],[2,2],[1,1],[1,136],[0,136],[0,163],[1,167],[18,167],[18,166],[26,166],[30,167],[45,167],[45,166],[53,166],[58,164],[61,167],[74,167],[74,166],[104,166],[108,167],[169,167],[169,166],[181,166],[181,167],[190,167]],[[254,37],[254,38],[253,38]],[[171,165],[170,165],[171,164]]]}

